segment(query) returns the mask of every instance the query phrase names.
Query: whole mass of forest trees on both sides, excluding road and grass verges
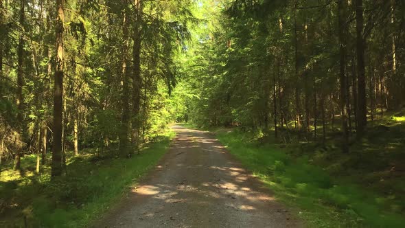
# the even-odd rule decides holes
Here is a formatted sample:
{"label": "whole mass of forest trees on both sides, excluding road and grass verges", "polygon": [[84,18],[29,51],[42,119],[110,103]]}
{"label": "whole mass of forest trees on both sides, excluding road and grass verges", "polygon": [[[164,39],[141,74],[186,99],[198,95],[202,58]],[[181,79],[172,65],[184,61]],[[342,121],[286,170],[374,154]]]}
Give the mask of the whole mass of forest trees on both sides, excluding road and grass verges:
{"label": "whole mass of forest trees on both sides, excluding road and grass verges", "polygon": [[[75,161],[140,159],[172,122],[403,175],[404,57],[402,0],[0,0],[1,184],[54,194],[83,183]],[[0,218],[24,194],[10,186]]]}

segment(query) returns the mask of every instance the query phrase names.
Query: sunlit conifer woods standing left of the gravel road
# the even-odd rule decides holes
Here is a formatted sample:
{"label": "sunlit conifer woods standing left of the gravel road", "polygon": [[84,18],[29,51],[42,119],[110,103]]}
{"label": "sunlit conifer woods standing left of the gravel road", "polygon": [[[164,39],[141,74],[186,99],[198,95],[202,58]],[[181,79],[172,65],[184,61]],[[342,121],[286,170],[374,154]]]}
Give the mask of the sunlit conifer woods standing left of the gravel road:
{"label": "sunlit conifer woods standing left of the gravel road", "polygon": [[170,122],[191,2],[0,3],[3,161],[51,151],[60,176],[67,150],[128,157]]}

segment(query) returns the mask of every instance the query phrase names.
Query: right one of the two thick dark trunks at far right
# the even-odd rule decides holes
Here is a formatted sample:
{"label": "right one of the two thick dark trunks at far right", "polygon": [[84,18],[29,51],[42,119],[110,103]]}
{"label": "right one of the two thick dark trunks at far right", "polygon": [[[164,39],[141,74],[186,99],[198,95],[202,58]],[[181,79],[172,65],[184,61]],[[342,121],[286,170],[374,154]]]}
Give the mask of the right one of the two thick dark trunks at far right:
{"label": "right one of the two thick dark trunks at far right", "polygon": [[357,75],[358,75],[358,124],[357,136],[364,135],[367,126],[367,100],[366,100],[366,76],[364,65],[364,37],[363,37],[363,1],[356,0],[356,49],[357,49]]}

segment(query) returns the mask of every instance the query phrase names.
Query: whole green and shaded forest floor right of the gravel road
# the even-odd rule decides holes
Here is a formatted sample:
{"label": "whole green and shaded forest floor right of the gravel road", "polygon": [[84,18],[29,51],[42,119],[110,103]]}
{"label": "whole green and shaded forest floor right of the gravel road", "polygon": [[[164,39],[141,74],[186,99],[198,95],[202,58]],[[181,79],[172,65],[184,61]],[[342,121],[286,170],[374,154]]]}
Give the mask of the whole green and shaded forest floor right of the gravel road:
{"label": "whole green and shaded forest floor right of the gravel road", "polygon": [[280,137],[275,140],[271,133],[265,136],[240,128],[209,130],[277,200],[297,208],[310,227],[403,227],[402,116],[391,113],[370,122],[363,139],[351,138],[349,154],[339,149],[337,130],[328,129],[324,143],[305,139],[303,133],[301,140],[286,143]]}

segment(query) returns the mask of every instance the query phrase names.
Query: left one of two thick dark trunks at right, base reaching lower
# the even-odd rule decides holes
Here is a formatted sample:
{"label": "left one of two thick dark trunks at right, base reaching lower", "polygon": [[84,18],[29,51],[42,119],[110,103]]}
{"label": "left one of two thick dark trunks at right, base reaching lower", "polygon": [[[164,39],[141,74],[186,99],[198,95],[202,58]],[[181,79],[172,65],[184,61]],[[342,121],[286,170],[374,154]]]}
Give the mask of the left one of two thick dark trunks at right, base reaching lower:
{"label": "left one of two thick dark trunks at right, base reaching lower", "polygon": [[347,77],[346,77],[346,34],[347,34],[347,8],[346,0],[338,1],[338,33],[339,33],[339,43],[340,43],[340,113],[342,118],[342,150],[343,152],[349,152],[349,133],[347,131],[347,110],[346,110],[346,86],[347,86]]}

